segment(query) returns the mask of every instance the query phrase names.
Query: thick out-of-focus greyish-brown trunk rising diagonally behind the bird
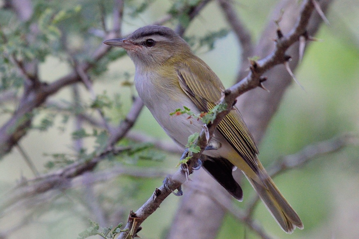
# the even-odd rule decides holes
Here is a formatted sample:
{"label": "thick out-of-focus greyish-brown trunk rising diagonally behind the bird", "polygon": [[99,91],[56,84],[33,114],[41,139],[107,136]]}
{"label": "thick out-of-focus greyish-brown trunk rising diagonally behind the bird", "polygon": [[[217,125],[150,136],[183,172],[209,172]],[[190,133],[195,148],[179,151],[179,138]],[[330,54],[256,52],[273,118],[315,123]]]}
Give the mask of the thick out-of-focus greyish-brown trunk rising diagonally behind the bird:
{"label": "thick out-of-focus greyish-brown trunk rising diagonally behind the bird", "polygon": [[[326,10],[330,3],[331,0],[321,1],[322,9]],[[280,22],[281,30],[283,32],[289,32],[295,24],[299,14],[298,3],[291,0],[280,1],[276,10],[272,13],[271,19],[268,20],[267,27],[262,32],[261,40],[255,47],[253,56],[266,56],[273,51],[274,43],[271,39],[276,37],[275,34],[278,27],[272,19],[278,19],[281,9],[285,10],[283,20]],[[307,27],[308,34],[314,35],[317,32],[320,23],[321,18],[314,11]],[[292,69],[297,66],[296,54],[298,54],[298,50],[296,48],[296,44],[294,44],[294,46],[287,51],[287,54],[293,58],[290,62]],[[248,75],[248,72],[244,71],[244,69],[248,68],[244,63],[242,63],[243,70],[237,76],[238,81]],[[291,77],[282,66],[272,68],[265,74],[270,79],[265,82],[266,87],[270,89],[270,94],[267,94],[262,89],[253,89],[237,99],[239,111],[241,111],[244,121],[257,144],[263,137],[271,117],[274,115],[280,104],[285,89],[291,82]],[[238,179],[240,176],[242,175],[238,175]],[[229,193],[227,193],[227,191],[225,191],[219,183],[215,182],[205,171],[200,171],[195,178],[192,178],[192,180],[194,182],[200,181],[203,186],[210,185],[210,187],[216,188],[217,195],[224,194],[231,198]],[[187,184],[191,183],[193,182],[188,182]],[[200,205],[200,209],[198,209],[199,206],[197,205]],[[194,209],[194,207],[196,208]],[[205,218],[207,213],[211,215],[210,220],[197,224],[197,219]],[[184,237],[188,239],[201,238],[202,235],[205,235],[206,238],[215,238],[225,215],[225,210],[223,210],[215,201],[207,200],[189,190],[186,191],[186,196],[183,197],[181,205],[175,215],[168,237],[169,239],[179,239]],[[213,229],[214,227],[215,229]],[[211,228],[211,230],[209,231],[208,228]],[[186,234],[187,231],[191,231],[191,235]]]}

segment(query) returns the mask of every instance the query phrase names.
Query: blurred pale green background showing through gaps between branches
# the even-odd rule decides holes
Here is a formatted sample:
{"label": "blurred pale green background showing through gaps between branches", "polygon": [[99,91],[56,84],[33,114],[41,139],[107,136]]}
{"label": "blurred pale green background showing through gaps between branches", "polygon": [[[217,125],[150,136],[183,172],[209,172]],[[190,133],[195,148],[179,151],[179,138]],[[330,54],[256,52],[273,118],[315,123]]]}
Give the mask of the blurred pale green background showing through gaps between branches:
{"label": "blurred pale green background showing through gaps between branches", "polygon": [[[127,35],[141,26],[153,23],[181,2],[183,1],[125,1],[122,34]],[[61,50],[61,38],[64,35],[67,37],[66,47],[69,51],[73,52],[75,58],[83,60],[87,57],[84,53],[93,52],[103,41],[103,33],[99,30],[101,21],[108,29],[111,28],[113,1],[31,3],[35,13],[31,21],[45,22],[60,11],[64,11],[66,16],[56,25],[59,32],[53,30],[53,36],[50,35],[47,42],[41,42],[41,39],[36,41],[40,45],[37,47],[45,52],[44,58],[39,60],[39,77],[48,83],[73,70],[69,57]],[[254,42],[260,37],[277,3],[274,0],[234,1],[237,14],[250,30]],[[0,31],[8,37],[8,41],[5,43],[3,40],[0,46],[3,47],[3,56],[6,56],[4,52],[10,51],[11,47],[24,47],[16,43],[21,41],[21,29],[29,28],[26,24],[18,23],[15,14],[6,6],[7,1],[0,1]],[[144,10],[140,11],[141,7]],[[52,15],[44,15],[46,11],[51,11]],[[358,137],[358,13],[359,4],[355,0],[334,1],[330,6],[326,14],[330,25],[322,24],[315,36],[321,40],[311,42],[302,63],[295,70],[295,76],[305,90],[295,83],[290,86],[259,145],[260,160],[265,167],[307,145],[347,133],[354,138]],[[176,23],[169,21],[166,25],[174,28]],[[196,40],[192,47],[197,56],[208,63],[224,85],[229,87],[235,82],[241,66],[238,60],[241,48],[222,12],[218,10],[216,1],[208,3],[191,21],[185,37],[199,39],[210,32],[221,33],[214,39],[213,49],[210,44],[201,45]],[[13,45],[9,46],[9,42],[13,42]],[[84,49],[84,53],[78,53]],[[123,53],[119,49],[112,51],[116,56],[99,63],[89,74],[95,94],[101,95],[104,101],[112,102],[111,107],[104,107],[103,110],[115,125],[124,119],[136,92],[131,85],[134,65],[127,56],[122,57]],[[30,53],[31,51],[28,54]],[[24,51],[17,54],[27,53]],[[5,58],[1,59],[3,66],[6,64]],[[21,84],[17,86],[16,79],[9,80],[11,77],[6,75],[7,72],[0,72],[1,91],[14,88],[17,96],[21,96]],[[91,94],[83,84],[77,84],[76,89],[73,86],[64,87],[51,96],[49,101],[60,105],[74,104],[76,91],[79,92],[81,107],[88,114],[97,117],[98,112],[90,107],[93,103]],[[263,94],[267,93],[263,91]],[[0,125],[11,117],[18,102],[15,98],[0,102]],[[5,200],[19,182],[34,178],[21,150],[41,174],[60,169],[76,158],[74,155],[78,149],[74,132],[79,132],[76,118],[50,106],[40,107],[34,114],[32,128],[20,140],[20,147],[14,147],[0,161],[0,200]],[[98,134],[101,130],[94,134],[96,127],[87,122],[81,124],[81,129],[89,134],[87,137],[80,137],[81,147],[90,153],[98,147]],[[171,142],[145,108],[131,131]],[[359,238],[359,148],[355,141],[337,152],[313,158],[303,167],[286,171],[274,178],[276,185],[302,218],[304,230],[295,230],[292,235],[285,234],[261,202],[256,207],[254,218],[274,238]],[[132,143],[130,139],[123,139],[119,144]],[[121,221],[126,223],[129,211],[137,210],[150,197],[155,187],[162,184],[163,177],[176,171],[179,159],[179,154],[168,154],[148,144],[138,144],[138,147],[138,153],[127,153],[101,162],[96,171],[106,172],[107,169],[123,165],[134,170],[156,169],[159,177],[113,176],[100,180],[91,187],[84,186],[85,182],[78,182],[70,189],[48,191],[31,204],[19,203],[3,209],[0,213],[0,238],[77,238],[88,227],[88,219],[100,225],[106,223],[101,226],[116,226]],[[254,193],[247,182],[243,182],[243,188],[244,201],[236,202],[238,207],[243,207],[242,204],[250,200]],[[142,224],[140,236],[145,239],[165,238],[180,200],[180,197],[169,196]],[[95,213],[96,209],[100,211],[99,214]],[[257,238],[257,235],[228,213],[217,238],[224,237]]]}

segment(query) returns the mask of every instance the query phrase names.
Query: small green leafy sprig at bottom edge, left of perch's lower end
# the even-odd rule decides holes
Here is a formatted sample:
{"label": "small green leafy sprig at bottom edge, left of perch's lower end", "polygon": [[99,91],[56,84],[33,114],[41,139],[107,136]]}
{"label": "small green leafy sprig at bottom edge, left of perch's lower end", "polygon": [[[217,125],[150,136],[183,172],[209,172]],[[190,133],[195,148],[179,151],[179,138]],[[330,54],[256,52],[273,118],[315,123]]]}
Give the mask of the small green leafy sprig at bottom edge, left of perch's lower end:
{"label": "small green leafy sprig at bottom edge, left of perch's lower end", "polygon": [[[95,235],[99,235],[104,239],[114,239],[116,237],[116,235],[118,233],[121,233],[122,231],[127,231],[127,230],[121,230],[120,228],[122,227],[122,223],[118,224],[118,226],[116,226],[116,228],[113,228],[113,226],[110,226],[109,228],[105,227],[102,228],[98,225],[98,223],[95,223],[94,221],[91,221],[89,219],[89,224],[90,227],[87,228],[86,230],[82,231],[79,233],[79,237],[77,239],[85,239],[88,238],[90,236],[95,236]],[[112,230],[112,233],[110,233]]]}

